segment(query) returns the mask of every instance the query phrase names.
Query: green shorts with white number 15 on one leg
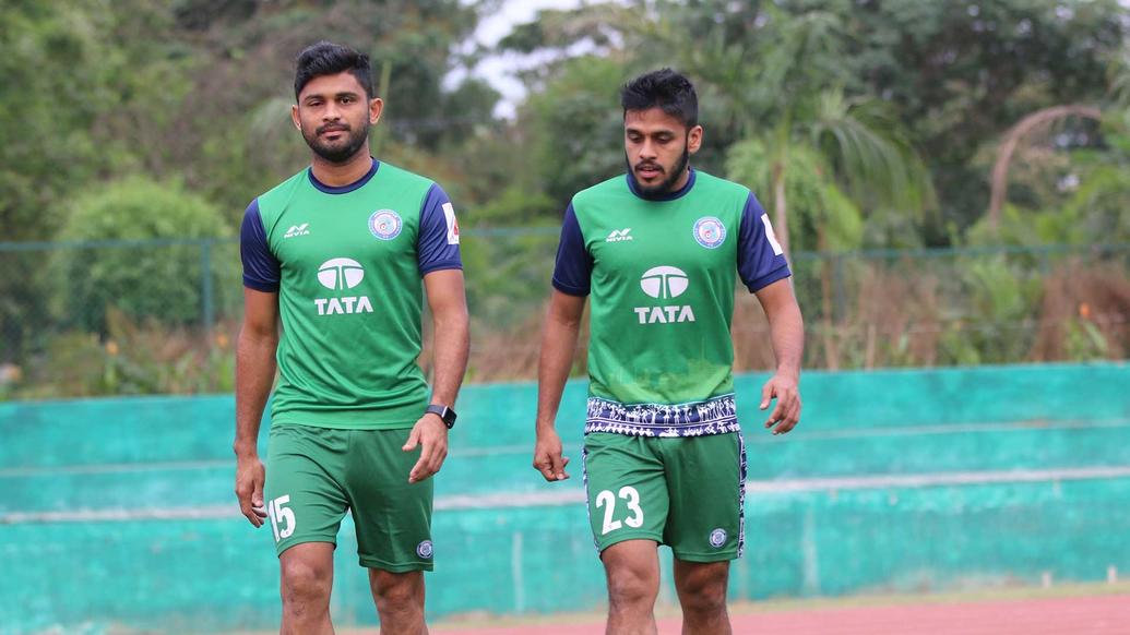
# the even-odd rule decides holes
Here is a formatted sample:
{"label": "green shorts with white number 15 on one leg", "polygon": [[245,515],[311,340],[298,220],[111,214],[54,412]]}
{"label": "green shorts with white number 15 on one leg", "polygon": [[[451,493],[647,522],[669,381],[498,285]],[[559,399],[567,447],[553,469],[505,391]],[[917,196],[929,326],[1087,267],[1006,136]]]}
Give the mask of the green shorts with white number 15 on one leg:
{"label": "green shorts with white number 15 on one leg", "polygon": [[433,480],[408,482],[420,454],[401,450],[410,432],[272,425],[266,498],[276,551],[337,545],[351,510],[362,566],[432,571]]}

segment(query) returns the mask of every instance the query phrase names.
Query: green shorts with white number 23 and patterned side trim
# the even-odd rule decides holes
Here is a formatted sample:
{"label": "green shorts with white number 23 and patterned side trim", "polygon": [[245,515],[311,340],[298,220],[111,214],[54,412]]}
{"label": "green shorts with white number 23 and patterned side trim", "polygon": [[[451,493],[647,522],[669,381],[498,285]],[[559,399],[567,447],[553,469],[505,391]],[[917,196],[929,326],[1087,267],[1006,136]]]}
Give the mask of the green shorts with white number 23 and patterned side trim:
{"label": "green shorts with white number 23 and patterned side trim", "polygon": [[645,539],[669,545],[680,560],[738,558],[745,546],[745,481],[741,433],[584,437],[589,523],[600,551]]}

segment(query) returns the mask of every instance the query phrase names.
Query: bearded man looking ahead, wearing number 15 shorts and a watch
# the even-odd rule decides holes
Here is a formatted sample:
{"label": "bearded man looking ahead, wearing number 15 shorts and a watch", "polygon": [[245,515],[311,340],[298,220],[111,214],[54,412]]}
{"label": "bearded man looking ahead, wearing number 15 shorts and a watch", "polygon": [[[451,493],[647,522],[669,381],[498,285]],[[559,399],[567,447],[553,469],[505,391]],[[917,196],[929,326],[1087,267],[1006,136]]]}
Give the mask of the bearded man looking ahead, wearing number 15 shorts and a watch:
{"label": "bearded man looking ahead, wearing number 15 shorts and a watch", "polygon": [[[468,355],[459,227],[438,185],[370,156],[383,102],[365,55],[314,44],[294,89],[312,163],[252,201],[241,230],[235,492],[254,527],[271,525],[282,633],[333,632],[333,548],[351,510],[381,632],[419,635],[429,477]],[[431,397],[416,364],[421,286],[435,325]],[[264,470],[257,442],[276,368]]]}

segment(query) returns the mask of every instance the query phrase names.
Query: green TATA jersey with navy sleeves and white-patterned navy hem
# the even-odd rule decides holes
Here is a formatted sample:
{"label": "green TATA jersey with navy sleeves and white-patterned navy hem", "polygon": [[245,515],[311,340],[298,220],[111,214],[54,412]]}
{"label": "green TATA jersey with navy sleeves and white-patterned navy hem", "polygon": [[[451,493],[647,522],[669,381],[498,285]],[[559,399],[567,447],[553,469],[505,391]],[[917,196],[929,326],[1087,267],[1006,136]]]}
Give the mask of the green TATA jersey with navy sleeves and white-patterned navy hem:
{"label": "green TATA jersey with navy sleeves and white-patterned navy hem", "polygon": [[730,322],[738,276],[790,275],[768,217],[741,185],[692,171],[645,198],[631,175],[577,193],[554,286],[591,295],[585,432],[690,436],[738,429]]}

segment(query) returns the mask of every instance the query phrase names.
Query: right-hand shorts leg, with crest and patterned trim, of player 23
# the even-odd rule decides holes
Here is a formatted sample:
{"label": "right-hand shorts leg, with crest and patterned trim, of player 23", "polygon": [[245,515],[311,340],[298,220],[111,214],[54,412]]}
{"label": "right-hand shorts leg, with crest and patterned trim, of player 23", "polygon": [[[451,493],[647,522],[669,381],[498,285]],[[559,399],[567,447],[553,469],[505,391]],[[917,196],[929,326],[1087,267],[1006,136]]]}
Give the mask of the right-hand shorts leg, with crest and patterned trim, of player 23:
{"label": "right-hand shorts leg, with crest and patterned trim, of player 23", "polygon": [[661,441],[671,497],[664,542],[676,558],[693,563],[739,557],[746,492],[741,433]]}

